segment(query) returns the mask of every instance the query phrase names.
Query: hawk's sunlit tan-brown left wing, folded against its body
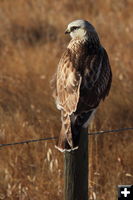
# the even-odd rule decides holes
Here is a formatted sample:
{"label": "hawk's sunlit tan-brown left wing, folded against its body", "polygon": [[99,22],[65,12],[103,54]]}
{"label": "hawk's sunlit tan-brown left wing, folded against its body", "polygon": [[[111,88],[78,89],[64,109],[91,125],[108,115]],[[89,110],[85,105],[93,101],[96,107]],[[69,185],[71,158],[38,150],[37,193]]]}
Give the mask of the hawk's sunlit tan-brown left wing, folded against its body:
{"label": "hawk's sunlit tan-brown left wing, folded against its body", "polygon": [[58,65],[57,69],[57,106],[64,112],[71,115],[77,109],[79,101],[81,76],[76,71],[70,60],[70,52],[67,50]]}

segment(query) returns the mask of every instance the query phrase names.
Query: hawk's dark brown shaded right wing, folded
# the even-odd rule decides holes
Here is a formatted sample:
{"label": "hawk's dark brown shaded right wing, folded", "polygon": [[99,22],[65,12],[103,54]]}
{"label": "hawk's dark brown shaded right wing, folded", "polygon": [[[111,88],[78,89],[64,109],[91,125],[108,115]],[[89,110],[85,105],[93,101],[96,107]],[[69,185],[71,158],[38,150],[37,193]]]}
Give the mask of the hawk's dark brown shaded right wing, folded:
{"label": "hawk's dark brown shaded right wing, folded", "polygon": [[100,48],[96,55],[88,55],[80,88],[80,100],[77,112],[96,108],[110,90],[112,73],[108,55]]}

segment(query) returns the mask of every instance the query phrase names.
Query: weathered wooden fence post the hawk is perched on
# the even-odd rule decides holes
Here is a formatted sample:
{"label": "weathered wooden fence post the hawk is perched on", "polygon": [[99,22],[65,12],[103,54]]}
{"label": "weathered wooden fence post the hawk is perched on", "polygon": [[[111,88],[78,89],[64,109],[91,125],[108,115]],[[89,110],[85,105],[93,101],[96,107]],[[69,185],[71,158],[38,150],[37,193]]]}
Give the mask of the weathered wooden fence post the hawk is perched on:
{"label": "weathered wooden fence post the hawk is perched on", "polygon": [[82,128],[80,147],[65,152],[65,200],[88,200],[88,129]]}

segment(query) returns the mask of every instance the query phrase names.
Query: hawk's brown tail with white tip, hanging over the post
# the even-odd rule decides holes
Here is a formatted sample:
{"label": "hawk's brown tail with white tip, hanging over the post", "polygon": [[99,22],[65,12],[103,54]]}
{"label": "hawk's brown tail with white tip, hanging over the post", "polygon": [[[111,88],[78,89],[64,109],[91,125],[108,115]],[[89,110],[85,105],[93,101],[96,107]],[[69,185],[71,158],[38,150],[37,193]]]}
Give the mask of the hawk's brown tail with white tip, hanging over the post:
{"label": "hawk's brown tail with white tip, hanging over the post", "polygon": [[80,142],[81,129],[88,127],[90,119],[96,109],[89,110],[80,115],[72,114],[65,116],[62,120],[62,129],[56,145],[56,148],[61,151],[72,151],[78,149]]}

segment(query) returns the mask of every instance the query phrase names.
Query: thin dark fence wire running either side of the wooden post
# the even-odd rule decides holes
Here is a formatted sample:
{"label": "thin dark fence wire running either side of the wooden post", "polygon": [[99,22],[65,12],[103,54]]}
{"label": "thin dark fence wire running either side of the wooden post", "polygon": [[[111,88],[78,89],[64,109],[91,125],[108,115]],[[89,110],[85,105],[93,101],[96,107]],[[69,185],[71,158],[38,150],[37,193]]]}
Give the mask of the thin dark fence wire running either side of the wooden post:
{"label": "thin dark fence wire running either side of the wooden post", "polygon": [[[129,131],[133,130],[133,128],[120,128],[120,129],[112,129],[112,130],[106,130],[106,131],[98,131],[98,132],[90,132],[88,135],[100,135],[100,134],[105,134],[105,133],[118,133],[122,131]],[[6,147],[6,146],[14,146],[18,144],[29,144],[33,142],[42,142],[42,141],[48,141],[48,140],[56,140],[58,137],[48,137],[48,138],[40,138],[40,139],[33,139],[33,140],[24,140],[21,142],[12,142],[12,143],[6,143],[6,144],[0,144],[1,147]]]}

